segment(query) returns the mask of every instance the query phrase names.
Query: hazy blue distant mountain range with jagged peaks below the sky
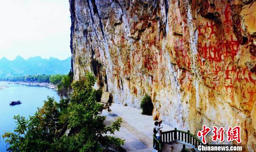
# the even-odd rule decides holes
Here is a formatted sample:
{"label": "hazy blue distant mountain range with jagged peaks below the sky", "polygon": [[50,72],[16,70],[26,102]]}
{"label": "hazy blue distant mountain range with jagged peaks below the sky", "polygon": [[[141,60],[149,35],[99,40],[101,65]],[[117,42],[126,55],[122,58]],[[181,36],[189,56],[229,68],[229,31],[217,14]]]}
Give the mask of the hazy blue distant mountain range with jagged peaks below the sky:
{"label": "hazy blue distant mountain range with jagged peaks below the sky", "polygon": [[71,69],[71,57],[59,60],[51,57],[49,60],[40,56],[30,57],[27,60],[17,56],[10,61],[6,57],[0,59],[0,77],[26,76],[37,74],[68,74]]}

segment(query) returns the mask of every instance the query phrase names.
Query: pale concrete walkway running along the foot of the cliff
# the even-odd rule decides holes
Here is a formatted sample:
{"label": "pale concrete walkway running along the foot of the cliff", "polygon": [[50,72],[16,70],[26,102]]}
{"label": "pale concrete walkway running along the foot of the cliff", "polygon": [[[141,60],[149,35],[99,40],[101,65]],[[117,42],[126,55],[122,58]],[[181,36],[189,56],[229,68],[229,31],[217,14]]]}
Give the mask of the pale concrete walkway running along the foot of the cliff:
{"label": "pale concrete walkway running along the foot of the cliff", "polygon": [[[112,104],[111,112],[103,111],[102,115],[107,116],[106,125],[110,125],[118,117],[123,123],[119,132],[113,136],[125,140],[124,148],[127,152],[152,152],[153,151],[153,128],[152,116],[141,114],[140,109],[125,107],[119,104]],[[163,124],[164,131],[174,130],[169,125]]]}

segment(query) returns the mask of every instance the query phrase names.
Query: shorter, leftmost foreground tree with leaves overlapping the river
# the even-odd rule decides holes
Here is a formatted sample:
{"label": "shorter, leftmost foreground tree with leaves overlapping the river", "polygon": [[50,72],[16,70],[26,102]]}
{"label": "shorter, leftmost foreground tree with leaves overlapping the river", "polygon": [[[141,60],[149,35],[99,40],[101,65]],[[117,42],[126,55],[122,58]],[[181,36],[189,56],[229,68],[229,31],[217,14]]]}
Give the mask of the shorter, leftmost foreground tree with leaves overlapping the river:
{"label": "shorter, leftmost foreground tree with leaves overlapping the river", "polygon": [[45,101],[34,116],[28,120],[24,116],[14,116],[17,127],[15,133],[5,133],[10,152],[46,152],[58,134],[59,108],[53,98]]}

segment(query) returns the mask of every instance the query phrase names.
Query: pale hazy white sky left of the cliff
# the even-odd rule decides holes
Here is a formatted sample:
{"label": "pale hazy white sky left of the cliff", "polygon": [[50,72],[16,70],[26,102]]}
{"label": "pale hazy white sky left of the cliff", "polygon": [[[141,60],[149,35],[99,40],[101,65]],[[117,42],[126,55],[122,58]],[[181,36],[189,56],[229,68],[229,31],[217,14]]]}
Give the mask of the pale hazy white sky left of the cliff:
{"label": "pale hazy white sky left of the cliff", "polygon": [[68,0],[2,0],[0,19],[0,58],[71,56]]}

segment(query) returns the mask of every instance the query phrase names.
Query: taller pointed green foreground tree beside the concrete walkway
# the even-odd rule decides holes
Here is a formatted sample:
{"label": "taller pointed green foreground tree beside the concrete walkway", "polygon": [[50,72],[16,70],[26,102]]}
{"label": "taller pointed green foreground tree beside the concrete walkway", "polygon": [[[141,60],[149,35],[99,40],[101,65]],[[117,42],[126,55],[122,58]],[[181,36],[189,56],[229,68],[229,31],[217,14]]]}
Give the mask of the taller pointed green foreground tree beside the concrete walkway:
{"label": "taller pointed green foreground tree beside the concrete walkway", "polygon": [[101,113],[103,109],[109,109],[110,105],[96,101],[96,90],[92,88],[95,81],[95,77],[87,73],[82,80],[72,84],[73,95],[65,115],[70,133],[56,143],[57,149],[62,152],[102,152],[100,145],[124,143],[119,138],[104,135],[119,131],[121,119],[110,126],[104,124],[106,116],[101,116]]}

